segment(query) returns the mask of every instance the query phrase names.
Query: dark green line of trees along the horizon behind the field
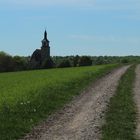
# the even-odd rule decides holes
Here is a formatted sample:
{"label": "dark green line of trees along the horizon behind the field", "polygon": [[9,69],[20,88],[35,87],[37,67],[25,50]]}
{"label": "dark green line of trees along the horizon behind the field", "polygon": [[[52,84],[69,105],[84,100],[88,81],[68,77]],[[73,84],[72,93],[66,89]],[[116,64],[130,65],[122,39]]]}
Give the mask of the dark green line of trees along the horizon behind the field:
{"label": "dark green line of trees along the horizon behind the field", "polygon": [[[140,63],[140,56],[53,56],[46,60],[43,67],[46,68],[65,68],[102,65],[111,63]],[[30,56],[11,56],[5,52],[0,52],[0,72],[12,72],[36,69],[30,65]]]}

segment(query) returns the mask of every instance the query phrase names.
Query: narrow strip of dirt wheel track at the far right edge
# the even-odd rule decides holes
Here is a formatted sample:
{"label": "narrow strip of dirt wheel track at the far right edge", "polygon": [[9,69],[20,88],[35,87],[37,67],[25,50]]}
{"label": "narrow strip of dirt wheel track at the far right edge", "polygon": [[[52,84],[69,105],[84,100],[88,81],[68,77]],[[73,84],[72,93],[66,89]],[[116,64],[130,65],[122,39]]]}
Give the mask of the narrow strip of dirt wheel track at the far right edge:
{"label": "narrow strip of dirt wheel track at the far right edge", "polygon": [[135,93],[134,98],[138,110],[136,135],[140,138],[140,65],[138,65],[136,68],[136,81],[135,81],[134,93]]}

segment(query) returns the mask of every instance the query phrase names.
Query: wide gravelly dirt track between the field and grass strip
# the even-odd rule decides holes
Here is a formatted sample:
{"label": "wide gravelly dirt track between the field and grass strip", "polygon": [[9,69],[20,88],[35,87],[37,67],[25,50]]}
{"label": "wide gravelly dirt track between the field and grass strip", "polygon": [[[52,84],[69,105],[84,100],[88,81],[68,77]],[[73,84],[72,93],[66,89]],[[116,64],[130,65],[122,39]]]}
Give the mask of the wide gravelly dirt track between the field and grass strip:
{"label": "wide gravelly dirt track between the field and grass strip", "polygon": [[24,140],[99,140],[107,104],[127,68],[119,68],[98,80]]}

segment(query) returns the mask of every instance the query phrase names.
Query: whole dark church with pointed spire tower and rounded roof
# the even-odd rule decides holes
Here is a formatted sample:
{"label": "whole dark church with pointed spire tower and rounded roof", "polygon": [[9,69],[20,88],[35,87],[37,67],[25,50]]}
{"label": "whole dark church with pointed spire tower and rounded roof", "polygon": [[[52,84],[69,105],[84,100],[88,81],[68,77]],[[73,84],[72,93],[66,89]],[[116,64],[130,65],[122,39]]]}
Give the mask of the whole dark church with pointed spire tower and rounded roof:
{"label": "whole dark church with pointed spire tower and rounded roof", "polygon": [[33,69],[43,68],[46,61],[50,60],[50,46],[47,38],[47,32],[44,32],[41,49],[36,49],[30,59],[30,66]]}

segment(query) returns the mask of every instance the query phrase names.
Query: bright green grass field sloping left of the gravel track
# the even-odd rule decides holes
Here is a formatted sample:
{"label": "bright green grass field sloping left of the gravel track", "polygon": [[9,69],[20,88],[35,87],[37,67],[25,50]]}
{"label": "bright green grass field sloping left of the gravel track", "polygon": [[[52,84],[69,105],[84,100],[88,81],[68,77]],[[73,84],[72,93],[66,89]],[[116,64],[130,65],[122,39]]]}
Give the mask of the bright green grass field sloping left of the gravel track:
{"label": "bright green grass field sloping left of the gravel track", "polygon": [[117,64],[0,74],[0,140],[21,138]]}

